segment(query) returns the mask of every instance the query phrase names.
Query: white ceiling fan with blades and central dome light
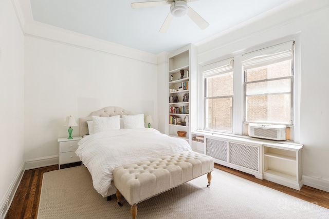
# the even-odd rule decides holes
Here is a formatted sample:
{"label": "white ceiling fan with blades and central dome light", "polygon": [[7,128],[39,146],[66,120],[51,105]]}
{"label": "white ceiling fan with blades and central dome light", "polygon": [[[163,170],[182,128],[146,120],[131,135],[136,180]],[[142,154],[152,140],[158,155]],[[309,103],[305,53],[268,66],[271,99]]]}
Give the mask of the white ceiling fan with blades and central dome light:
{"label": "white ceiling fan with blades and central dome light", "polygon": [[196,13],[190,6],[188,6],[188,2],[194,2],[197,0],[168,0],[168,1],[152,1],[152,2],[137,2],[132,3],[131,7],[135,8],[147,8],[158,5],[170,5],[170,12],[168,13],[165,22],[163,22],[159,32],[165,33],[167,32],[170,23],[173,17],[181,17],[184,15],[188,15],[192,21],[202,30],[206,29],[209,24],[206,20]]}

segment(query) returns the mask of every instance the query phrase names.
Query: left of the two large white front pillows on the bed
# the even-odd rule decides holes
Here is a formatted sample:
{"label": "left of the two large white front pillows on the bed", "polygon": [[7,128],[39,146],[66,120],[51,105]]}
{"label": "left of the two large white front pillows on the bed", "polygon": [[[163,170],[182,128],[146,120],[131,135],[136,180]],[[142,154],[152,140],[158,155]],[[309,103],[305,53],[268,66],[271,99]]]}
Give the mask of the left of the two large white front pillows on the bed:
{"label": "left of the two large white front pillows on the bed", "polygon": [[100,117],[92,116],[94,122],[94,133],[120,129],[120,115]]}

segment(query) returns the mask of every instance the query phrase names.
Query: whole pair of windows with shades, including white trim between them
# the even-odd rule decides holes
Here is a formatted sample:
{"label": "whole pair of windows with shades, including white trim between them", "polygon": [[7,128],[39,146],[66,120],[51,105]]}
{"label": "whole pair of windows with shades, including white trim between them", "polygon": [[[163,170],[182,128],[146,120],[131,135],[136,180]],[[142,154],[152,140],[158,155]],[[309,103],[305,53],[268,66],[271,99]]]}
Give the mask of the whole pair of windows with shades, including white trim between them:
{"label": "whole pair of windows with shades, including white trim between them", "polygon": [[272,45],[200,64],[199,130],[247,135],[249,123],[285,125],[286,139],[298,141],[300,77],[294,73],[295,42]]}

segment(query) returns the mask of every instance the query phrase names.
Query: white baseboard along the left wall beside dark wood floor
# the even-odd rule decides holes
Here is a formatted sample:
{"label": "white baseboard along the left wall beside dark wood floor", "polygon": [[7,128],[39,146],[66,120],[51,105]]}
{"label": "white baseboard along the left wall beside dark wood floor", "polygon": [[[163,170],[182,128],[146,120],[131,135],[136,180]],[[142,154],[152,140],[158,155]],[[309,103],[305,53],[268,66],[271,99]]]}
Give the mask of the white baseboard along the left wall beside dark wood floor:
{"label": "white baseboard along the left wall beside dark wood floor", "polygon": [[19,188],[25,170],[24,165],[25,164],[23,162],[17,171],[14,180],[11,182],[5,196],[3,197],[3,200],[0,203],[0,219],[5,218],[5,215],[7,214],[9,207],[14,199],[16,190]]}

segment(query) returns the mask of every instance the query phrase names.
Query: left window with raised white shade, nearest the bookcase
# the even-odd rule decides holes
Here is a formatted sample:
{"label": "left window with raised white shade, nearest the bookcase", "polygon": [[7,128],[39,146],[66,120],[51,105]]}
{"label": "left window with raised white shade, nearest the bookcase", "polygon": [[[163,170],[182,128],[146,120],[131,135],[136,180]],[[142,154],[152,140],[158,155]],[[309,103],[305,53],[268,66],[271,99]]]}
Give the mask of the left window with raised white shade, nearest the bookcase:
{"label": "left window with raised white shade, nearest the bookcase", "polygon": [[233,58],[203,66],[204,129],[232,132]]}

